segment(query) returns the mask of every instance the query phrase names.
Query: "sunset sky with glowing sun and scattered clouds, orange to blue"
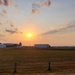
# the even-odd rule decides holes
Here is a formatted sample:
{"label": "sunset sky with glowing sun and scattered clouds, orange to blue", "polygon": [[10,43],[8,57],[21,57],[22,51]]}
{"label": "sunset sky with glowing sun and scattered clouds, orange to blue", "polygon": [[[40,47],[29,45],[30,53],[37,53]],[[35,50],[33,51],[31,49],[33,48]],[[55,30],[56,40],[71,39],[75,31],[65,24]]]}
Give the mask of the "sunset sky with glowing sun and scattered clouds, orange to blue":
{"label": "sunset sky with glowing sun and scattered clouds, orange to blue", "polygon": [[0,0],[0,42],[75,46],[75,0]]}

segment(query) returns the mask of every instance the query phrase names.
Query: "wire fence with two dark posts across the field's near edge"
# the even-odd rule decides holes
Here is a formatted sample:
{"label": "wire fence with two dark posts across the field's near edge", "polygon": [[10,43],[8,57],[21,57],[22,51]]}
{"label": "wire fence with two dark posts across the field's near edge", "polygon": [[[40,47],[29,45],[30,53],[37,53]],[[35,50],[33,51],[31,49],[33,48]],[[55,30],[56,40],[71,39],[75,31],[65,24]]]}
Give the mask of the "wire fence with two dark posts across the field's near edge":
{"label": "wire fence with two dark posts across the field's near edge", "polygon": [[0,63],[0,73],[44,73],[63,70],[75,71],[75,62]]}

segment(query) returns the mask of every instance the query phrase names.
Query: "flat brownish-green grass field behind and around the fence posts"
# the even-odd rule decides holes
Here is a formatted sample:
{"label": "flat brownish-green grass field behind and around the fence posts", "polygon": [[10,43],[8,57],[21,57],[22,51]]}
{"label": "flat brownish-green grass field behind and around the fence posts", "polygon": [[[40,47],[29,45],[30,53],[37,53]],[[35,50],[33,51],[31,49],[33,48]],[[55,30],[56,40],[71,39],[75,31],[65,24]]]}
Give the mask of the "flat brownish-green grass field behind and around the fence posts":
{"label": "flat brownish-green grass field behind and around the fence posts", "polygon": [[[51,71],[48,71],[49,62],[51,63]],[[75,73],[75,50],[35,48],[0,49],[0,74],[13,75],[14,63],[17,63],[16,75]]]}

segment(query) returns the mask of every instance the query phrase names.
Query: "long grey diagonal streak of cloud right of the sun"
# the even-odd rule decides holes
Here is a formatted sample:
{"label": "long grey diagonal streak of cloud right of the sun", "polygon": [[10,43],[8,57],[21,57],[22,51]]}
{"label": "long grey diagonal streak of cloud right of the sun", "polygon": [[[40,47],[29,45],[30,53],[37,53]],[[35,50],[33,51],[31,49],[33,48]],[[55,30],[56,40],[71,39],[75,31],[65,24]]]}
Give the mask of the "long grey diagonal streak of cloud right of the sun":
{"label": "long grey diagonal streak of cloud right of the sun", "polygon": [[64,30],[67,30],[67,29],[70,29],[70,28],[73,28],[73,27],[75,27],[75,22],[69,23],[69,24],[67,24],[65,26],[62,26],[62,27],[58,27],[58,29],[54,29],[52,31],[47,31],[45,33],[42,33],[41,35],[54,34],[54,33],[62,32]]}

